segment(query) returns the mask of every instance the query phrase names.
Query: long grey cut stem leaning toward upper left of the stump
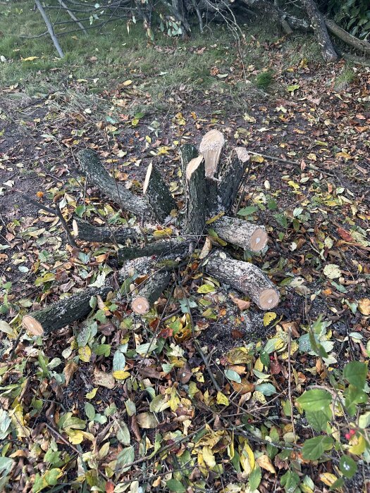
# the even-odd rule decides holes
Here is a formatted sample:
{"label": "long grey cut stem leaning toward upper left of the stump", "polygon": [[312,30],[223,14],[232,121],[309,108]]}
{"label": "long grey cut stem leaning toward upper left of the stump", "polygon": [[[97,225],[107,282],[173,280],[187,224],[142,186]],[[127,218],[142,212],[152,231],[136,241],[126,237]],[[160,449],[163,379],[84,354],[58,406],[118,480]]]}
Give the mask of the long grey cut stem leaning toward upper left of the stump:
{"label": "long grey cut stem leaning toward upper left of the stump", "polygon": [[85,173],[87,180],[97,187],[100,192],[109,196],[125,211],[129,211],[136,216],[146,216],[148,214],[147,201],[140,199],[132,194],[121,183],[116,182],[113,176],[108,173],[99,156],[92,149],[82,149],[78,153],[80,168]]}

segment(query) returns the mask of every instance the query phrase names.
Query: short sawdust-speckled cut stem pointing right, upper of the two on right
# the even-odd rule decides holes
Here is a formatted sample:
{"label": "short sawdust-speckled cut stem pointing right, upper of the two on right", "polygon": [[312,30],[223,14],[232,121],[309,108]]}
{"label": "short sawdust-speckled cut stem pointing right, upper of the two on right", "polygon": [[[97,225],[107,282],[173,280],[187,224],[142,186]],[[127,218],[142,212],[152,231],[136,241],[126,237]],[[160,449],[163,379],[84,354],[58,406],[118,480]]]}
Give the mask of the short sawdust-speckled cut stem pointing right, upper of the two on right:
{"label": "short sawdust-speckled cut stem pointing right, upper of the two on right", "polygon": [[261,251],[267,244],[268,236],[264,227],[242,219],[223,216],[210,226],[220,238],[245,250]]}

